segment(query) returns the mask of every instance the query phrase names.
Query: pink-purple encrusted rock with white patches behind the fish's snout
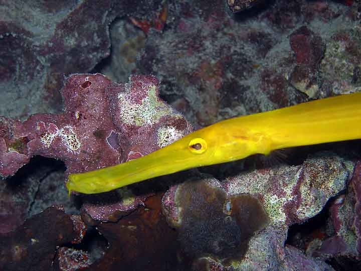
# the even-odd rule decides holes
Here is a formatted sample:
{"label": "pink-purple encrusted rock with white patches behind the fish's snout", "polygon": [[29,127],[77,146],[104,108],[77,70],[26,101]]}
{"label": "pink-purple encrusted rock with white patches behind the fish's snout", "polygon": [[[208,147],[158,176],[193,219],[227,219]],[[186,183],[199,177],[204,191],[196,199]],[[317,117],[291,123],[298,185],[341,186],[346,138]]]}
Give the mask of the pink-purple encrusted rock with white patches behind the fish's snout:
{"label": "pink-purple encrusted rock with white patches behind the fish's snout", "polygon": [[[0,175],[15,174],[35,155],[64,161],[67,173],[104,168],[151,153],[192,130],[159,99],[153,76],[133,75],[128,83],[117,84],[102,74],[74,74],[61,94],[62,114],[35,114],[24,122],[0,119]],[[124,191],[114,193],[108,204],[88,201],[86,210],[107,220],[121,209]],[[127,208],[141,204],[128,198]]]}

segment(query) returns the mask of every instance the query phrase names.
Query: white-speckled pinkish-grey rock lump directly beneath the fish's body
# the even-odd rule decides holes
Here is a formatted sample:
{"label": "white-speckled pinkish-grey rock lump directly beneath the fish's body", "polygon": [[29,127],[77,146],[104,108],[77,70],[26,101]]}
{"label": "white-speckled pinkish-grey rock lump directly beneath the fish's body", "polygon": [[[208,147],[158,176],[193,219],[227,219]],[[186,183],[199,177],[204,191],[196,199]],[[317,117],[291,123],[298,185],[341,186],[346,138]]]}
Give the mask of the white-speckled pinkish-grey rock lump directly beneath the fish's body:
{"label": "white-speckled pinkish-grey rock lump directly beneath the fish's body", "polygon": [[255,170],[226,180],[230,194],[251,193],[263,199],[271,224],[304,222],[345,188],[353,163],[329,153],[301,166]]}

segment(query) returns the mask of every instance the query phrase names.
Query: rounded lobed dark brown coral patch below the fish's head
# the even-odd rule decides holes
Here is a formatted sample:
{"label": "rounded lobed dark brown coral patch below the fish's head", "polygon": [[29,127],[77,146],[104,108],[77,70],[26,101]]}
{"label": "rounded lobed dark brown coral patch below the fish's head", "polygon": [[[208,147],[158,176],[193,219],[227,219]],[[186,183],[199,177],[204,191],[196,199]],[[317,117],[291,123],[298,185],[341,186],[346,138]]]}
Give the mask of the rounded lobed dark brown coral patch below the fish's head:
{"label": "rounded lobed dark brown coral patch below the fish's head", "polygon": [[262,204],[249,194],[227,197],[216,179],[200,179],[179,185],[173,200],[165,196],[163,213],[177,229],[186,255],[222,262],[241,258],[254,232],[269,222]]}

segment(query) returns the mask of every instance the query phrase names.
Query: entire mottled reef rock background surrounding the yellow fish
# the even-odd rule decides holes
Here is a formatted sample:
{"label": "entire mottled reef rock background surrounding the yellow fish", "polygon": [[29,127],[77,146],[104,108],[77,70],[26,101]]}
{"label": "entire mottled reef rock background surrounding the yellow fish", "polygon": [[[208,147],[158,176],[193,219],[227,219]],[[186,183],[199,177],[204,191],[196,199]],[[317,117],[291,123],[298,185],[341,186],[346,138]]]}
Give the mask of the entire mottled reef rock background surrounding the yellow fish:
{"label": "entire mottled reef rock background surrounding the yellow fish", "polygon": [[360,270],[360,141],[64,186],[222,119],[360,92],[360,21],[352,0],[0,0],[0,270]]}

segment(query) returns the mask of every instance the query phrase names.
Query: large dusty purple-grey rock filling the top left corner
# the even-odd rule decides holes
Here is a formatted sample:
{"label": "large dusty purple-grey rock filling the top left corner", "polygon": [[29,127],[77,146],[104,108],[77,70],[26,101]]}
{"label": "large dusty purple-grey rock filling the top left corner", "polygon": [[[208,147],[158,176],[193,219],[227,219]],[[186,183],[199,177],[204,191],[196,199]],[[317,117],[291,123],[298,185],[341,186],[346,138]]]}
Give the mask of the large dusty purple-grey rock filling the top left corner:
{"label": "large dusty purple-grey rock filling the top left corner", "polygon": [[108,25],[116,17],[152,14],[153,6],[151,0],[2,3],[0,115],[60,112],[64,76],[89,72],[109,56]]}

